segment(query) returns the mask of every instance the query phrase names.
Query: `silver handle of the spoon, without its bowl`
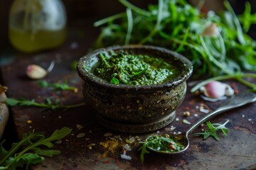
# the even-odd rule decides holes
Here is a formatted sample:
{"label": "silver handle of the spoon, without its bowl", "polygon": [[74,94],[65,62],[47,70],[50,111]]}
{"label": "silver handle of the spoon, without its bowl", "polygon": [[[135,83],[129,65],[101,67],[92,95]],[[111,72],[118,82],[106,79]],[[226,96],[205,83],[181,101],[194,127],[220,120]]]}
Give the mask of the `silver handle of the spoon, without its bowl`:
{"label": "silver handle of the spoon, without its bowl", "polygon": [[233,108],[238,108],[240,106],[244,106],[247,103],[252,103],[256,101],[256,94],[250,93],[250,92],[243,92],[240,94],[237,94],[233,96],[233,98],[230,98],[228,101],[223,103],[219,108],[217,108],[215,111],[212,111],[205,115],[203,118],[198,120],[197,123],[195,123],[191,128],[189,128],[186,131],[186,135],[188,135],[189,132],[191,132],[193,129],[195,129],[198,125],[201,125],[206,120],[209,120],[210,118],[213,118],[215,115],[218,115],[220,113],[223,113],[224,111],[229,111]]}

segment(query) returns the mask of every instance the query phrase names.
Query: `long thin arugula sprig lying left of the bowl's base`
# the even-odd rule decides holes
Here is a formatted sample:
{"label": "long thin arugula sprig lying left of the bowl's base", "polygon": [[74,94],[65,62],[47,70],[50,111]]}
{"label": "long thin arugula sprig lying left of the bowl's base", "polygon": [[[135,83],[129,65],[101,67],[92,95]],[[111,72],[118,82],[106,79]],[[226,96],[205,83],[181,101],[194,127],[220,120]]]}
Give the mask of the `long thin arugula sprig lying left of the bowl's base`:
{"label": "long thin arugula sprig lying left of the bowl's base", "polygon": [[58,108],[67,110],[69,108],[76,108],[76,107],[85,105],[85,103],[78,103],[75,105],[60,105],[58,104],[58,101],[55,101],[55,103],[52,103],[52,101],[50,101],[50,98],[46,98],[46,103],[38,103],[35,101],[35,99],[32,99],[31,101],[29,101],[25,98],[21,98],[21,99],[6,98],[5,102],[8,106],[36,106],[36,107],[46,108],[51,110],[58,109]]}

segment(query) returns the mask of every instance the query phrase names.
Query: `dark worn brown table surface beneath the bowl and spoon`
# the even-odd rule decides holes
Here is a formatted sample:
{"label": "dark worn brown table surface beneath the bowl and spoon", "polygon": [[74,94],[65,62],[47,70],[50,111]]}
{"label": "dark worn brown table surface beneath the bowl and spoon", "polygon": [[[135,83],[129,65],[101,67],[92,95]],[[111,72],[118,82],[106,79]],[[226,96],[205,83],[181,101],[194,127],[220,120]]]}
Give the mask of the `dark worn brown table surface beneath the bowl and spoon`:
{"label": "dark worn brown table surface beneath the bowl and spoon", "polygon": [[[3,83],[9,88],[7,96],[35,99],[38,102],[45,102],[46,98],[50,97],[52,101],[58,99],[63,104],[83,102],[81,79],[70,66],[90,50],[95,40],[92,38],[93,34],[95,33],[79,28],[70,29],[69,38],[63,46],[36,54],[22,54],[11,48],[5,50],[0,61]],[[52,60],[55,60],[55,67],[45,80],[52,83],[67,81],[70,86],[78,87],[78,93],[42,88],[38,86],[37,80],[26,77],[28,64],[39,64],[47,68]],[[255,83],[255,80],[250,81]],[[238,91],[247,89],[235,81],[226,82],[233,84]],[[203,101],[199,96],[189,93],[189,89],[191,86],[188,86],[186,98],[176,110],[176,118],[179,120],[174,120],[166,128],[159,130],[160,132],[183,132],[190,126],[182,123],[185,118],[183,112],[189,111],[191,115],[186,119],[195,123],[206,114],[198,107],[212,111],[223,103]],[[73,129],[61,143],[55,144],[55,149],[62,152],[60,155],[46,157],[43,164],[33,166],[32,169],[256,169],[255,113],[256,103],[252,103],[218,115],[211,120],[212,123],[230,120],[227,125],[228,135],[220,135],[220,141],[212,137],[203,140],[202,137],[190,135],[191,146],[186,152],[173,156],[146,154],[142,164],[137,151],[140,146],[137,139],[153,135],[156,131],[125,134],[108,130],[97,124],[90,106],[67,111],[42,111],[42,108],[35,107],[11,108],[11,118],[14,120],[18,137],[31,130],[43,131],[50,135],[54,130],[63,127]],[[32,123],[28,124],[28,120]],[[201,132],[201,129],[196,128],[193,132]],[[85,136],[80,137],[81,134]],[[136,139],[129,144],[132,151],[127,151],[132,160],[125,160],[120,154],[124,152],[124,145],[130,137]]]}

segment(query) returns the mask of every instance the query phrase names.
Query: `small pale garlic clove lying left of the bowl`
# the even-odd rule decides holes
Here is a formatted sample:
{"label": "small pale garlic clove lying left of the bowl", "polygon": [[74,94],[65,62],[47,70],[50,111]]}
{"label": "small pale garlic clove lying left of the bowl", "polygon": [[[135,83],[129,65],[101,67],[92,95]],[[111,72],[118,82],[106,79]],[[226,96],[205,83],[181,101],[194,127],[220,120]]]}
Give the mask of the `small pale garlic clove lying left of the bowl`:
{"label": "small pale garlic clove lying left of the bowl", "polygon": [[30,64],[26,68],[26,74],[31,79],[42,79],[43,77],[46,77],[47,73],[46,69],[43,69],[36,64]]}

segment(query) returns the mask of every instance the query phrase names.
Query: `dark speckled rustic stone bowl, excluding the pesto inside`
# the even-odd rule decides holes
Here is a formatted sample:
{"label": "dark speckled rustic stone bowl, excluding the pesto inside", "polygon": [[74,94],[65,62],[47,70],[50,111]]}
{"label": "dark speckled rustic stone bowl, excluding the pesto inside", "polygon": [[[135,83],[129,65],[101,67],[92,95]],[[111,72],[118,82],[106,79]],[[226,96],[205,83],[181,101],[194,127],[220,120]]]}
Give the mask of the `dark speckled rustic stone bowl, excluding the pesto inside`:
{"label": "dark speckled rustic stone bowl, excluding the pesto inside", "polygon": [[[110,84],[92,73],[92,69],[99,64],[100,53],[110,51],[161,57],[179,68],[178,76],[156,85]],[[185,98],[186,79],[192,74],[192,64],[186,57],[149,45],[95,50],[80,58],[77,69],[83,80],[85,102],[95,110],[98,123],[111,130],[129,133],[150,132],[169,125],[175,118],[176,108]]]}

